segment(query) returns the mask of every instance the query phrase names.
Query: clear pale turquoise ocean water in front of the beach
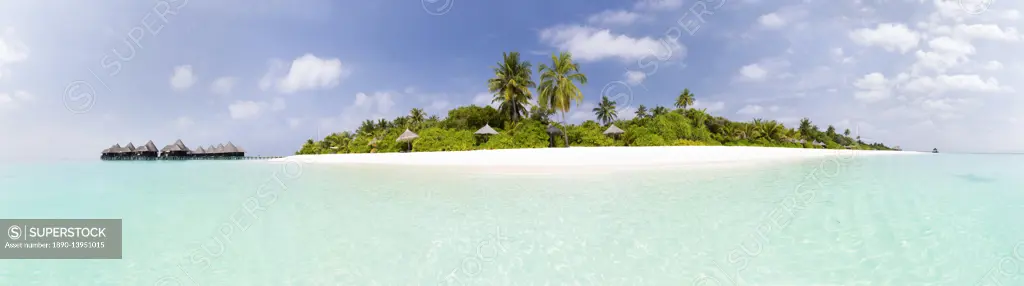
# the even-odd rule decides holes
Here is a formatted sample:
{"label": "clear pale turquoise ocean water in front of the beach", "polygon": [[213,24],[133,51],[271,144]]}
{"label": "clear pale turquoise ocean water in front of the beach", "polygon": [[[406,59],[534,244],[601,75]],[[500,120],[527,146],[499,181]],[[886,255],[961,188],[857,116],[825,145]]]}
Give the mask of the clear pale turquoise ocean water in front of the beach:
{"label": "clear pale turquoise ocean water in front of the beach", "polygon": [[[0,164],[2,218],[122,218],[0,285],[1024,285],[1024,156],[502,175]],[[224,235],[229,233],[229,235]]]}

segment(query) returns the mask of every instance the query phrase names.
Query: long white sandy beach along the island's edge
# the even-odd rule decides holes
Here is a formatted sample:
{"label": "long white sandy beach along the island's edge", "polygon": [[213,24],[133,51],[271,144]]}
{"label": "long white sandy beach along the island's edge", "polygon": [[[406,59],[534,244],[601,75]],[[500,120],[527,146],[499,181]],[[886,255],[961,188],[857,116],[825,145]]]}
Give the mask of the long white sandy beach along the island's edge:
{"label": "long white sandy beach along the island's edge", "polygon": [[658,167],[771,163],[813,158],[925,155],[921,152],[762,147],[602,147],[382,154],[297,155],[271,162],[451,167]]}

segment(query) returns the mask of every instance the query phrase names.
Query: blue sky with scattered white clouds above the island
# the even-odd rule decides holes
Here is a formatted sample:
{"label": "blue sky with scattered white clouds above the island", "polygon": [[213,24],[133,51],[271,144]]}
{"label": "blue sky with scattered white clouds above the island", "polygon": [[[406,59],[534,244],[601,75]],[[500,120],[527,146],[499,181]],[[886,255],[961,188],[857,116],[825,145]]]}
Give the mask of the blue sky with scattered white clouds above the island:
{"label": "blue sky with scattered white clouds above the island", "polygon": [[[489,105],[503,52],[569,51],[567,119],[671,107],[851,129],[904,150],[1024,152],[1024,2],[0,0],[0,160],[231,141],[289,155],[413,108]],[[1015,52],[1016,51],[1016,52]]]}

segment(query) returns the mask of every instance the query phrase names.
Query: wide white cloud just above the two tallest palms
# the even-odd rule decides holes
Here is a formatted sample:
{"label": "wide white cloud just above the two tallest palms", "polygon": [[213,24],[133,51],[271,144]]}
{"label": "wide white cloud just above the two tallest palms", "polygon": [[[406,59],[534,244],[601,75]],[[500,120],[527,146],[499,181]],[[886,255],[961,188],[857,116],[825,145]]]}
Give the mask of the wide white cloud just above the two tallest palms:
{"label": "wide white cloud just above the two tallest palms", "polygon": [[678,41],[650,37],[632,38],[609,30],[583,26],[557,26],[540,33],[541,41],[572,53],[574,59],[595,62],[606,58],[637,60],[668,59],[685,55]]}

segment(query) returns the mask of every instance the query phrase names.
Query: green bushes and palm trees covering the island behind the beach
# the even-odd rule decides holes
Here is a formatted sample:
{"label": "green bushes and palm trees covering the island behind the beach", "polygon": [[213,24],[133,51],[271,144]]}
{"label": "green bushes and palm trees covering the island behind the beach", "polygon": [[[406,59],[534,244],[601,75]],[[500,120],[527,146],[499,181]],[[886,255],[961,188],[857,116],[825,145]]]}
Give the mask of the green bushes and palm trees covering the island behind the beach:
{"label": "green bushes and palm trees covering the island behind the beach", "polygon": [[[808,149],[892,150],[882,144],[865,144],[860,137],[850,137],[849,129],[842,133],[828,126],[821,131],[810,119],[804,118],[797,128],[788,128],[774,120],[755,118],[751,122],[730,121],[712,116],[706,110],[691,109],[695,95],[683,89],[673,103],[675,109],[637,107],[635,117],[620,120],[615,103],[607,97],[598,101],[592,112],[600,123],[588,120],[579,125],[566,124],[565,114],[579,107],[584,94],[577,84],[587,84],[580,65],[566,52],[551,56],[551,66],[538,69],[541,83],[532,80],[532,65],[519,58],[518,52],[503,54],[494,68],[487,88],[495,95],[492,107],[463,106],[449,111],[443,119],[427,117],[422,109],[393,120],[367,120],[354,131],[333,133],[321,140],[306,140],[297,155],[391,153],[402,150],[404,142],[395,139],[407,128],[420,137],[413,140],[413,152],[468,151],[547,147],[616,147],[616,146],[758,146]],[[537,89],[538,105],[530,106]],[[573,105],[574,104],[574,105]],[[550,118],[558,113],[561,122]],[[614,124],[626,132],[609,136],[603,132]],[[473,132],[490,125],[497,135],[476,135]],[[560,134],[549,135],[548,126]],[[560,137],[560,138],[559,138]],[[816,142],[816,144],[815,144]]]}

